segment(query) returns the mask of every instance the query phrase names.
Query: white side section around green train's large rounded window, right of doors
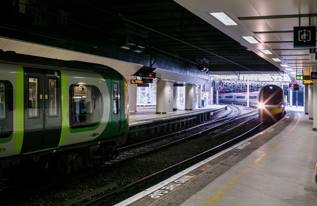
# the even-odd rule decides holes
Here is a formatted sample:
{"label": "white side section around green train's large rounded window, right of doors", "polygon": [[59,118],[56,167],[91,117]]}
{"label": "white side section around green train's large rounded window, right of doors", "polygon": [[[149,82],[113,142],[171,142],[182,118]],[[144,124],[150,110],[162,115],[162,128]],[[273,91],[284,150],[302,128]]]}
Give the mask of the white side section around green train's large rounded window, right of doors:
{"label": "white side section around green train's large rounded window, right of doors", "polygon": [[[63,132],[59,146],[92,141],[104,132],[110,134],[106,126],[111,122],[109,88],[106,80],[97,73],[63,70],[67,78],[66,88],[68,97],[62,97]],[[65,81],[65,78],[62,79]],[[64,94],[65,95],[65,94]]]}

